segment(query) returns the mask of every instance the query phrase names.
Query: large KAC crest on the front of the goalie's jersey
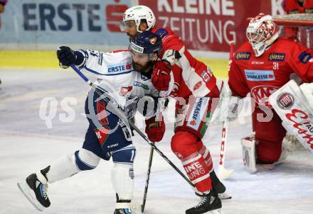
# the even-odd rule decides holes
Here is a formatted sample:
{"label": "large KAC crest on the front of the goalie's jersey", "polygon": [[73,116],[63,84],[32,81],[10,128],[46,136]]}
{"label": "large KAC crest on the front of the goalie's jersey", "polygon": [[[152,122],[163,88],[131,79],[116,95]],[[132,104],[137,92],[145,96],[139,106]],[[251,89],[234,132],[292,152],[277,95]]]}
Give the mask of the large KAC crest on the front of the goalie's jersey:
{"label": "large KAC crest on the front of the goalie's jersey", "polygon": [[277,89],[279,88],[276,86],[254,86],[251,89],[251,96],[255,98],[256,103],[272,108],[268,101],[268,98],[271,94],[277,91]]}

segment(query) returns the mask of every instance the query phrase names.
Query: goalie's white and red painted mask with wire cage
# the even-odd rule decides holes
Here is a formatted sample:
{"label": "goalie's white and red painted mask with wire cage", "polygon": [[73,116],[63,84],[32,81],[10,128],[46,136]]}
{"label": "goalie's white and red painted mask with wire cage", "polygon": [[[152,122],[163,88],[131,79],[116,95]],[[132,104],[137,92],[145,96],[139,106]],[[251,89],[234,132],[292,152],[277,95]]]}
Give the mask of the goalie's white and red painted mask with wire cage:
{"label": "goalie's white and red painted mask with wire cage", "polygon": [[272,21],[272,16],[260,13],[250,20],[246,35],[255,56],[260,57],[278,38],[278,28]]}

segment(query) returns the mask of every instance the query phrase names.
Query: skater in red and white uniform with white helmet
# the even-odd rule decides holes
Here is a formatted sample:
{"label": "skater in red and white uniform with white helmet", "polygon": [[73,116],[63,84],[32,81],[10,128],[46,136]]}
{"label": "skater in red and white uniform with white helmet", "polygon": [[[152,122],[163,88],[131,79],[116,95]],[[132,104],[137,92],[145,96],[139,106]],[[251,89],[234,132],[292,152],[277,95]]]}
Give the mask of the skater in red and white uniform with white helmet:
{"label": "skater in red and white uniform with white helmet", "polygon": [[[221,208],[220,197],[226,196],[226,188],[218,180],[211,154],[203,145],[208,118],[213,112],[212,98],[219,96],[216,77],[211,69],[196,60],[184,43],[169,28],[154,28],[154,13],[147,6],[134,6],[123,15],[124,32],[134,38],[143,30],[151,30],[162,39],[160,61],[154,64],[152,84],[166,96],[176,99],[175,134],[171,150],[181,159],[196,193],[201,201],[187,214],[206,213]],[[228,196],[229,197],[229,196]]]}

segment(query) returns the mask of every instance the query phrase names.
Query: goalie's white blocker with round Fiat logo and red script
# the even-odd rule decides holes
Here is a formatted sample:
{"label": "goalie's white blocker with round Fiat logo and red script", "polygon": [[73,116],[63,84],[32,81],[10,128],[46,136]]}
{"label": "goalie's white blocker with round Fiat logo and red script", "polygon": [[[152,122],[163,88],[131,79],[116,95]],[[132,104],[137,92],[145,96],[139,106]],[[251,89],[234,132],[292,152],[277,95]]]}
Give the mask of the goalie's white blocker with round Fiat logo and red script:
{"label": "goalie's white blocker with round Fiat logo and red script", "polygon": [[313,84],[298,86],[290,80],[270,96],[282,125],[313,154]]}

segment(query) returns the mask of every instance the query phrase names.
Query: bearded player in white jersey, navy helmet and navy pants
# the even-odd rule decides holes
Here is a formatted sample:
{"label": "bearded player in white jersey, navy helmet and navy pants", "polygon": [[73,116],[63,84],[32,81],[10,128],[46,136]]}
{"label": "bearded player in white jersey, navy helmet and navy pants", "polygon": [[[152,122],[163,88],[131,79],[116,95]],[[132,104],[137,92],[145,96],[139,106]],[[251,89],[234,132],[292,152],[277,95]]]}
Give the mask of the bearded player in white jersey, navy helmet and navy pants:
{"label": "bearded player in white jersey, navy helmet and navy pants", "polygon": [[[130,50],[98,52],[73,51],[70,47],[62,46],[57,55],[60,67],[68,68],[70,64],[75,64],[94,75],[97,79],[95,84],[110,96],[110,103],[118,104],[126,116],[132,118],[140,107],[137,103],[147,103],[140,98],[153,101],[151,97],[159,96],[159,91],[152,86],[150,76],[161,49],[161,39],[146,31],[138,35],[129,47]],[[36,171],[25,181],[18,182],[18,187],[38,210],[51,205],[47,195],[48,184],[80,171],[95,169],[100,159],[109,160],[112,157],[112,184],[117,196],[115,214],[134,213],[130,202],[134,188],[133,163],[136,149],[132,144],[131,131],[107,106],[108,103],[91,90],[85,102],[89,127],[83,147]],[[153,113],[147,110],[145,112],[150,116],[146,120],[149,140],[160,141],[165,131],[164,120],[155,122]]]}

